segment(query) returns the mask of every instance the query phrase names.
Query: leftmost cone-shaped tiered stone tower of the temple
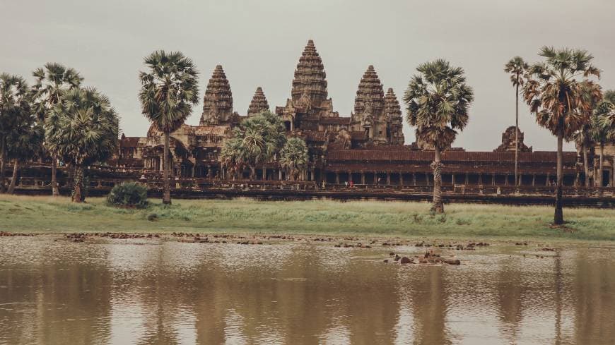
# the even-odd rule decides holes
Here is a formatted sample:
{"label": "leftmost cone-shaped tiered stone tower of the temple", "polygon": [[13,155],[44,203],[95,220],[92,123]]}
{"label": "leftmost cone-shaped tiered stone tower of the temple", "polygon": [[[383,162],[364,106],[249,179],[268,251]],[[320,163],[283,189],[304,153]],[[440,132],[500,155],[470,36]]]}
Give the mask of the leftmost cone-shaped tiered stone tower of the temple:
{"label": "leftmost cone-shaped tiered stone tower of the temple", "polygon": [[222,66],[216,66],[203,98],[201,126],[221,125],[233,120],[233,94]]}

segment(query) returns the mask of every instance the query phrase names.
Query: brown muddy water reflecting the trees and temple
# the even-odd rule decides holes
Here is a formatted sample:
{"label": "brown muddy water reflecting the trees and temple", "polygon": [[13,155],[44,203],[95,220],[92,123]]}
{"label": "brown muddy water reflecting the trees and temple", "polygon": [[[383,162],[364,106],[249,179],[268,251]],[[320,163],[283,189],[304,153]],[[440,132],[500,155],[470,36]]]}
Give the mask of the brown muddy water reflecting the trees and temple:
{"label": "brown muddy water reflecting the trees and temple", "polygon": [[0,238],[0,344],[615,344],[609,248],[54,239]]}

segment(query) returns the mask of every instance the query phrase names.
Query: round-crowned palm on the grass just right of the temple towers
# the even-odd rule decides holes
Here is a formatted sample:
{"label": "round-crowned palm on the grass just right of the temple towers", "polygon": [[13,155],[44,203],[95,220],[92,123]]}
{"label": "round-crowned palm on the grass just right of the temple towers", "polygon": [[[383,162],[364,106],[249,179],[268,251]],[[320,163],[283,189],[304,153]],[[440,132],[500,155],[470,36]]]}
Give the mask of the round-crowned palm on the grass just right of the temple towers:
{"label": "round-crowned palm on the grass just right of the temple towers", "polygon": [[444,59],[421,64],[404,94],[406,120],[416,127],[416,140],[433,147],[433,209],[443,213],[442,163],[440,154],[455,141],[457,131],[468,123],[468,109],[474,100],[463,68]]}

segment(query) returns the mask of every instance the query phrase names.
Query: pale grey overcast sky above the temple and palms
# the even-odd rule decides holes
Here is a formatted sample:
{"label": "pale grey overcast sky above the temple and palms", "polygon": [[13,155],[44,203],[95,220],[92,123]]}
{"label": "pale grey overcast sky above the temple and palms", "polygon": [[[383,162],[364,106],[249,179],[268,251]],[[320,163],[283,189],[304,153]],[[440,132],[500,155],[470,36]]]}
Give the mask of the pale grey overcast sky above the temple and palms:
{"label": "pale grey overcast sky above the temple and palms", "polygon": [[[614,10],[613,0],[0,0],[0,71],[32,81],[31,72],[46,62],[74,67],[86,85],[110,97],[122,131],[136,136],[149,126],[137,101],[137,73],[156,49],[180,50],[194,60],[201,98],[220,63],[239,114],[259,85],[272,110],[285,104],[309,39],[341,116],[352,111],[370,64],[401,102],[416,66],[445,58],[465,69],[476,94],[454,146],[493,150],[515,123],[514,89],[503,72],[512,56],[537,61],[543,45],[587,49],[602,69],[604,89],[615,88]],[[199,122],[201,104],[187,123]],[[534,150],[556,149],[525,104],[520,128]],[[414,141],[406,123],[404,133],[406,143]]]}

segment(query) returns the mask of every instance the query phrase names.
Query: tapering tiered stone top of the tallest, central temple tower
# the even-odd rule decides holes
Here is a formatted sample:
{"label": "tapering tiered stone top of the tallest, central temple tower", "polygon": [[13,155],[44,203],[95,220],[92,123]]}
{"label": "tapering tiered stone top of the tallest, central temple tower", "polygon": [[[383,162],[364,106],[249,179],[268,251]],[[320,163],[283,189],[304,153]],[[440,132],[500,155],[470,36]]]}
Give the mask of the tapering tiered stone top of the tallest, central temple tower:
{"label": "tapering tiered stone top of the tallest, central temple tower", "polygon": [[293,102],[297,104],[300,100],[303,100],[303,102],[309,100],[312,103],[311,105],[319,107],[320,102],[327,99],[328,95],[326,77],[322,59],[316,52],[314,41],[309,40],[299,58],[297,69],[295,69],[291,91]]}

